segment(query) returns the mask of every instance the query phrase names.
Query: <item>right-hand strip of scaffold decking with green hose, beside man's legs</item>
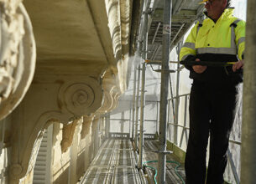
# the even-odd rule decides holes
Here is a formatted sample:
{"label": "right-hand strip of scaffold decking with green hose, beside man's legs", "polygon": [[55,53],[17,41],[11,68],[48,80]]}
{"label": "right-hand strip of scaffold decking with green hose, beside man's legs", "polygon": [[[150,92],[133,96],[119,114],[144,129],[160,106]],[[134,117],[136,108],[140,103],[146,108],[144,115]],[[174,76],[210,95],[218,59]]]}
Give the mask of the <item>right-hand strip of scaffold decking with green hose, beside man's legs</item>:
{"label": "right-hand strip of scaffold decking with green hose, beside man's legs", "polygon": [[[158,155],[157,153],[153,152],[158,150],[158,141],[144,141],[144,161],[157,161]],[[166,161],[177,161],[175,156],[172,154],[169,154],[166,156]],[[154,163],[147,163],[148,166],[154,166],[154,168],[157,169],[157,162]],[[175,167],[177,165],[175,163],[166,163],[166,183],[168,184],[179,184],[183,183],[180,180],[180,177],[175,173]],[[152,177],[154,177],[154,171],[148,170]],[[177,168],[178,174],[183,178],[185,181],[185,171],[184,171],[184,165],[180,164],[180,167]]]}

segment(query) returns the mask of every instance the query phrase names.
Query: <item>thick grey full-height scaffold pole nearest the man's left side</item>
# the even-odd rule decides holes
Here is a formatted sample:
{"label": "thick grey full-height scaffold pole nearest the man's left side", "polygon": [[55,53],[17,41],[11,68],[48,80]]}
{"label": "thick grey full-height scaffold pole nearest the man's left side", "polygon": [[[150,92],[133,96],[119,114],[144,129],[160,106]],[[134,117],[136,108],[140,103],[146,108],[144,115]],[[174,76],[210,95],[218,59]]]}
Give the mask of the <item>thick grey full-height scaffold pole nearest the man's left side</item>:
{"label": "thick grey full-height scaffold pole nearest the man's left side", "polygon": [[165,183],[166,165],[166,113],[169,84],[169,49],[170,49],[170,18],[171,0],[164,3],[163,21],[163,52],[162,52],[162,71],[161,71],[161,92],[160,92],[160,116],[159,116],[159,161],[158,161],[158,183]]}

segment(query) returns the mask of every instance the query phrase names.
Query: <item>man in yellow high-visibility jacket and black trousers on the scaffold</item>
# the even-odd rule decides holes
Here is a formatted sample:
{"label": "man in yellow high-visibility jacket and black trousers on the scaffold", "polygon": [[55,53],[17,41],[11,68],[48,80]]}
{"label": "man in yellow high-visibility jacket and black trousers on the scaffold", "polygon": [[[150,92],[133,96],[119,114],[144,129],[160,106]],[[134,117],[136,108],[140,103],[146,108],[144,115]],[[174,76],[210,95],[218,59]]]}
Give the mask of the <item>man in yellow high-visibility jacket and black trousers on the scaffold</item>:
{"label": "man in yellow high-visibility jacket and black trousers on the scaffold", "polygon": [[[245,22],[232,17],[230,0],[203,0],[206,19],[196,23],[180,50],[180,60],[236,62],[230,67],[185,65],[193,79],[190,99],[190,135],[185,156],[188,184],[222,184],[237,85],[243,81]],[[210,157],[206,172],[206,147]],[[207,176],[206,176],[207,173]]]}

